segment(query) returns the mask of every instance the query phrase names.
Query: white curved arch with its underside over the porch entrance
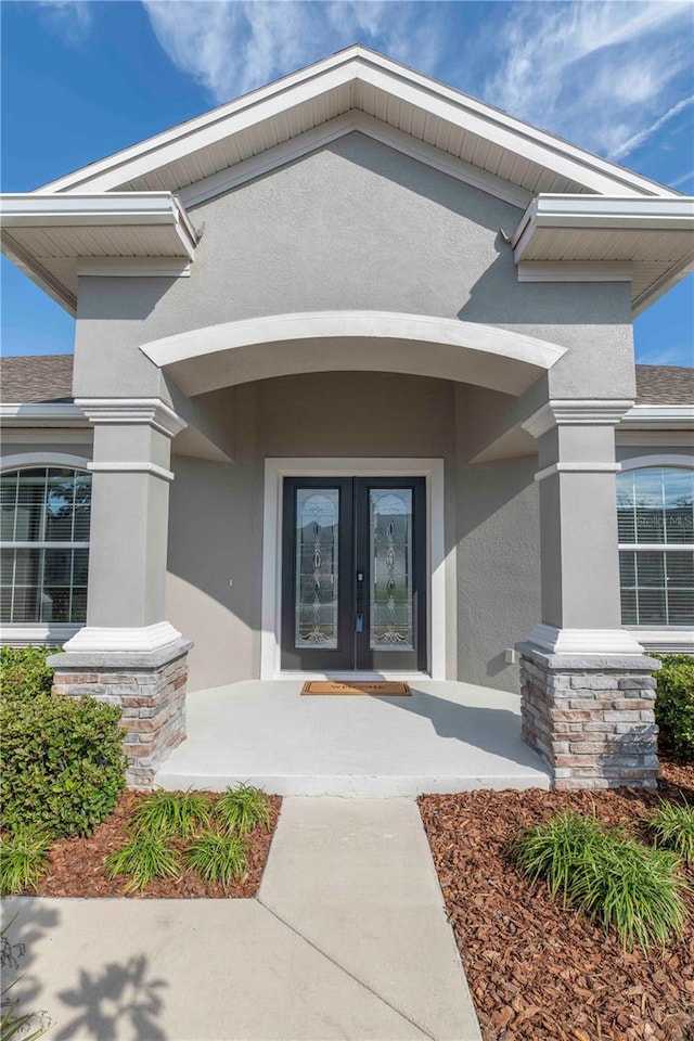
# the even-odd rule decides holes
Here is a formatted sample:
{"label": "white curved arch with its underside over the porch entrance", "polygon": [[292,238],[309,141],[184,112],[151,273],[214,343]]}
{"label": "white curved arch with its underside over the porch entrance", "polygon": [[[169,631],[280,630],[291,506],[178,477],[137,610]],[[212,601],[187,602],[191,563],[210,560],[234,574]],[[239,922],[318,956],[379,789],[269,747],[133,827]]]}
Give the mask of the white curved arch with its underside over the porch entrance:
{"label": "white curved arch with its underside over the porch entrance", "polygon": [[[288,349],[290,343],[296,350]],[[424,344],[435,349],[422,351]],[[250,355],[244,348],[262,345],[267,350],[259,364],[258,350]],[[140,349],[159,368],[169,368],[188,394],[291,372],[344,369],[413,372],[520,394],[566,352],[565,347],[494,325],[362,310],[242,319],[167,336]]]}

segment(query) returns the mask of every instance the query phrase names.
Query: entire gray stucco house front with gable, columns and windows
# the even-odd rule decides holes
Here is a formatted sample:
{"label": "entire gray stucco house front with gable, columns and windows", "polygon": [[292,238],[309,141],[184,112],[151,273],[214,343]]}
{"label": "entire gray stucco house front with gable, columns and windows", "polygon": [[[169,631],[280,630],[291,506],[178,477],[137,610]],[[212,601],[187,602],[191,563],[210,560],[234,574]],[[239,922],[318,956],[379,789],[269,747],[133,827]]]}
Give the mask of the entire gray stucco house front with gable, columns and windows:
{"label": "entire gray stucco house front with gable, columns and windows", "polygon": [[2,213],[77,319],[4,362],[3,638],[133,783],[187,690],[318,676],[519,687],[557,785],[655,783],[694,395],[631,324],[692,200],[352,47]]}

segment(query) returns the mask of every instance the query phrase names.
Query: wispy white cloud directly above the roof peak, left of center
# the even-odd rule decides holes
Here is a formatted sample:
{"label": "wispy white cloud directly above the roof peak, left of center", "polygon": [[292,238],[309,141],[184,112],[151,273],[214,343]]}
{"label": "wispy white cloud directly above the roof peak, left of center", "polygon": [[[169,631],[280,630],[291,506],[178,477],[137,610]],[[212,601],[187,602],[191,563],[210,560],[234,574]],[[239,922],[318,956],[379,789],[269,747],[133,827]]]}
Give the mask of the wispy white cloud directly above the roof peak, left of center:
{"label": "wispy white cloud directly above the roof peak, left of center", "polygon": [[436,20],[409,3],[143,0],[143,5],[171,61],[218,103],[356,40],[425,67],[438,53]]}

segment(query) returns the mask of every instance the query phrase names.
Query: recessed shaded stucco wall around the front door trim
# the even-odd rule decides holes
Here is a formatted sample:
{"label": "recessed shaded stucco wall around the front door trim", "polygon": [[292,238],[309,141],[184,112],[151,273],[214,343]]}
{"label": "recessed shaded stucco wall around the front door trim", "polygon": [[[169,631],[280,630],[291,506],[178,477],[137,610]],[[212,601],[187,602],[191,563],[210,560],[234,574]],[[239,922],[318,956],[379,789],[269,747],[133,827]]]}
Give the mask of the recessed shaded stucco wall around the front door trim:
{"label": "recessed shaded stucco wall around the front door trim", "polygon": [[167,618],[195,641],[190,689],[259,674],[265,457],[419,455],[446,464],[448,674],[513,690],[504,648],[540,617],[536,460],[459,465],[445,381],[323,373],[223,395],[240,461],[172,462]]}

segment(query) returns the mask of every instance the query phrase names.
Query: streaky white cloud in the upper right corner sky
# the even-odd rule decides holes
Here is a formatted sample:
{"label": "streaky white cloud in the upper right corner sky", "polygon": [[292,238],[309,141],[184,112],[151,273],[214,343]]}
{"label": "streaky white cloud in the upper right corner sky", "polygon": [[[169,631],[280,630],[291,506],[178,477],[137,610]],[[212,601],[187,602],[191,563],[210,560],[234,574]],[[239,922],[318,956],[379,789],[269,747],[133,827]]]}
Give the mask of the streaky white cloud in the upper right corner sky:
{"label": "streaky white cloud in the upper right corner sky", "polygon": [[684,107],[693,10],[665,0],[509,7],[484,97],[621,158]]}

